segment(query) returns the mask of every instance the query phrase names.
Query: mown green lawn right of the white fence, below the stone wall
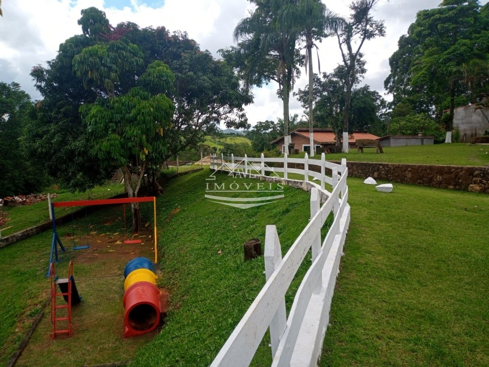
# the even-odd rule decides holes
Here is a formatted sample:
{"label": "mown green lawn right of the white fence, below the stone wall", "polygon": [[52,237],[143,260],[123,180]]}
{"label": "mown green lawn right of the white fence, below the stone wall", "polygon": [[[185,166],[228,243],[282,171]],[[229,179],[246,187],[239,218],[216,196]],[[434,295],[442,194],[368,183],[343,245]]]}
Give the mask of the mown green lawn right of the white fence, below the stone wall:
{"label": "mown green lawn right of the white fence, below the stone wall", "polygon": [[489,196],[349,179],[320,366],[489,365]]}

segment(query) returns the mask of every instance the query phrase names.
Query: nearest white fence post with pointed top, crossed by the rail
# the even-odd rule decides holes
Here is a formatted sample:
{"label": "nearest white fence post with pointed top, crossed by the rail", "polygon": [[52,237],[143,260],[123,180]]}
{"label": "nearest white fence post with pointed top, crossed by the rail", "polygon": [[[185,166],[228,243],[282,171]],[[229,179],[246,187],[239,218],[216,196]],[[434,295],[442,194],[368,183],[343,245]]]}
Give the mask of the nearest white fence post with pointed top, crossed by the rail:
{"label": "nearest white fence post with pointed top, crossed by the rail", "polygon": [[[270,276],[277,269],[280,261],[282,261],[282,250],[280,248],[279,235],[277,233],[277,227],[274,225],[267,225],[265,229],[265,278],[268,281]],[[277,295],[280,297],[279,295]],[[271,356],[272,358],[277,353],[280,339],[284,334],[285,327],[287,325],[287,315],[285,312],[285,297],[282,295],[282,302],[274,315],[274,318],[270,322],[270,342],[271,342]]]}

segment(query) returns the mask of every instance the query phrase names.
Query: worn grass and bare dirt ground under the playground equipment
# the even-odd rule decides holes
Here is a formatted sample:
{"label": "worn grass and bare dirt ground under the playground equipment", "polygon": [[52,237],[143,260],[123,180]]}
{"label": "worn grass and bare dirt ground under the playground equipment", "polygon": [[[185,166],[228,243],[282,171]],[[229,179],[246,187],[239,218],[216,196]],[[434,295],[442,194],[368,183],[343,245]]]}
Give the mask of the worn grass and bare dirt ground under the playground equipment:
{"label": "worn grass and bare dirt ground under the playground equipment", "polygon": [[[152,215],[152,204],[143,205],[148,206],[147,212]],[[147,344],[164,324],[169,294],[160,290],[162,318],[158,327],[137,337],[124,337],[125,267],[137,257],[155,259],[153,225],[142,222],[138,233],[133,234],[130,230],[130,205],[125,209],[128,213],[124,213],[121,204],[100,205],[91,214],[57,228],[65,251],[56,244],[59,258],[55,263],[56,274],[60,278],[67,277],[68,264],[72,261],[73,277],[82,302],[71,307],[71,336],[60,334],[53,338],[50,306],[47,304],[50,280],[46,277],[40,283],[45,289],[46,302],[39,311],[31,310],[36,316],[42,313],[42,317],[14,366],[94,366],[108,361],[114,365],[126,365],[135,351]],[[146,216],[143,215],[145,220]],[[50,233],[40,235],[38,240],[43,241],[46,247],[42,251],[44,256],[48,253],[45,239],[53,233],[47,232]],[[44,264],[42,270],[45,271],[48,257]],[[157,269],[154,272],[158,274]],[[66,304],[63,300],[57,303]]]}

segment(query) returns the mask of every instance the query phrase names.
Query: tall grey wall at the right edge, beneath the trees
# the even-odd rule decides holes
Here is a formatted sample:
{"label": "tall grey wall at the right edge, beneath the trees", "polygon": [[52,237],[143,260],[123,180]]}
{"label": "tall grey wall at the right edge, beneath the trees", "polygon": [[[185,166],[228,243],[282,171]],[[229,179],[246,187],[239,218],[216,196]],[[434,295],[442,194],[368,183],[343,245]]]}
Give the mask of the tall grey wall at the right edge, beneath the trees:
{"label": "tall grey wall at the right edge, beneath the trees", "polygon": [[484,116],[489,118],[489,111],[476,110],[473,105],[455,109],[453,129],[460,132],[461,142],[468,143],[470,138],[483,136],[485,130],[489,130],[489,122]]}

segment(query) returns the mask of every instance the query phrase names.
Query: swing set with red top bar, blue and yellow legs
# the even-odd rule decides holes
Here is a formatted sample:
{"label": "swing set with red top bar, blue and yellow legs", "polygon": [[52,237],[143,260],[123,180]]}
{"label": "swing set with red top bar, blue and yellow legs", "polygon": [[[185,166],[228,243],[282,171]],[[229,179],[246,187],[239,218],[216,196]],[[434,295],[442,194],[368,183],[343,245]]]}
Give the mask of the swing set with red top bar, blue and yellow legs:
{"label": "swing set with red top bar, blue and yellow legs", "polygon": [[[56,217],[55,217],[55,207],[66,207],[66,206],[89,206],[89,205],[110,205],[110,204],[124,204],[124,232],[126,227],[126,207],[125,204],[128,203],[140,203],[140,202],[153,202],[153,216],[154,216],[154,228],[153,228],[153,240],[154,240],[154,262],[158,261],[158,248],[157,248],[157,237],[156,237],[156,198],[154,196],[147,197],[135,197],[135,198],[121,198],[121,199],[103,199],[103,200],[74,200],[74,201],[58,201],[51,202],[51,217],[52,217],[52,241],[51,241],[51,253],[49,256],[49,264],[53,262],[58,262],[58,245],[63,252],[66,251],[63,243],[61,242],[60,236],[56,230]],[[71,212],[71,219],[73,222],[73,211]],[[88,241],[88,240],[87,240]],[[125,244],[141,243],[140,239],[130,239],[124,240]],[[73,228],[73,250],[83,250],[90,248],[90,244],[76,246],[74,242],[74,228]],[[54,256],[54,259],[53,259]],[[50,276],[50,266],[48,267],[46,276]]]}

